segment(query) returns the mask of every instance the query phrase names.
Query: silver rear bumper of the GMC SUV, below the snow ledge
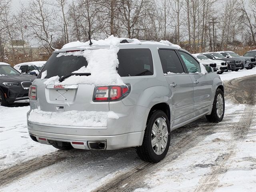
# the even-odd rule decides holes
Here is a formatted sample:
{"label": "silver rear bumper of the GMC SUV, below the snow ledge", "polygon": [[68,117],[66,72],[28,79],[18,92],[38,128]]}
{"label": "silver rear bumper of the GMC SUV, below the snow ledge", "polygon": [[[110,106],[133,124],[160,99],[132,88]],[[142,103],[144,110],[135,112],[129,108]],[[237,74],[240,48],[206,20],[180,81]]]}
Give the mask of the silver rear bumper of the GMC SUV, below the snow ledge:
{"label": "silver rear bumper of the GMC SUV, below the snow ledge", "polygon": [[[150,109],[137,105],[124,106],[121,101],[116,102],[115,105],[116,108],[111,107],[111,109],[118,114],[119,118],[108,118],[106,126],[62,126],[28,121],[28,133],[42,144],[50,144],[49,140],[70,142],[71,144],[72,142],[83,142],[84,145],[72,144],[74,148],[79,149],[93,149],[88,145],[89,142],[104,142],[106,150],[142,145]],[[118,110],[119,112],[117,112]],[[28,116],[30,112],[31,110],[28,112]],[[44,138],[44,140],[39,138]]]}

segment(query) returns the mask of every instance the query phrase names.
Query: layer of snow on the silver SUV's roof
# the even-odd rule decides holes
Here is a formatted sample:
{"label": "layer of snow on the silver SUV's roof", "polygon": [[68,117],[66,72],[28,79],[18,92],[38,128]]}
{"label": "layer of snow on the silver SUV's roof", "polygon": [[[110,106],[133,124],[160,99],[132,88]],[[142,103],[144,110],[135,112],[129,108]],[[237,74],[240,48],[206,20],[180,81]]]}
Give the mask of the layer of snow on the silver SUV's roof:
{"label": "layer of snow on the silver SUV's roof", "polygon": [[[138,40],[136,38],[133,39],[129,39],[129,38],[117,38],[114,37],[113,35],[109,36],[108,38],[104,39],[104,40],[94,40],[92,39],[92,46],[90,46],[90,41],[87,42],[80,42],[80,41],[76,41],[76,42],[70,42],[68,44],[65,44],[62,49],[67,49],[67,48],[82,48],[82,49],[91,49],[94,48],[94,46],[118,46],[118,45],[124,45],[124,44],[155,44],[155,45],[168,45],[168,46],[173,46],[175,48],[180,49],[181,47],[176,45],[176,44],[172,44],[171,42],[167,41],[167,40],[161,40],[160,42],[156,42],[156,41],[144,41],[144,40]],[[124,43],[121,43],[122,41],[126,41]],[[58,50],[56,50],[58,51]]]}

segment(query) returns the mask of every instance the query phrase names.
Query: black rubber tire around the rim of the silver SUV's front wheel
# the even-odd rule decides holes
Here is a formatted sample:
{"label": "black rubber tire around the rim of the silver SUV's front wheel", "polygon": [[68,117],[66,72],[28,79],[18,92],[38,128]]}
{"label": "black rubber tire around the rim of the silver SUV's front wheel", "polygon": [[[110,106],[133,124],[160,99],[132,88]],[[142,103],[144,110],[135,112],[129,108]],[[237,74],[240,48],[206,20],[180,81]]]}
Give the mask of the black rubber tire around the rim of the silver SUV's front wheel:
{"label": "black rubber tire around the rim of the silver SUV's front wheel", "polygon": [[[217,106],[216,106],[217,97],[218,97],[219,94],[222,96],[222,99],[223,99],[223,113],[222,113],[222,116],[220,116],[220,117],[217,114]],[[216,93],[215,93],[215,96],[214,96],[214,101],[213,101],[213,106],[212,106],[212,113],[210,115],[206,115],[206,119],[208,120],[208,122],[215,122],[215,123],[221,122],[223,117],[224,117],[224,112],[225,112],[224,94],[223,94],[221,89],[217,89]]]}

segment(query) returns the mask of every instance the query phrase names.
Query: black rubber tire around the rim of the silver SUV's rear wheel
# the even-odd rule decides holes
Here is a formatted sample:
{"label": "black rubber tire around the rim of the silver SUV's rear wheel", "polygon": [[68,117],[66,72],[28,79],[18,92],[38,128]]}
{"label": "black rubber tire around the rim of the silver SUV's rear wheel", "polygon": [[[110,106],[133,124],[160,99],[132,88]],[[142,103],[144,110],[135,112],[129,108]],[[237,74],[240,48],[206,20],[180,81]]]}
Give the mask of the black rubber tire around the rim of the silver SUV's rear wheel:
{"label": "black rubber tire around the rim of the silver SUV's rear wheel", "polygon": [[[154,149],[151,144],[152,128],[158,118],[164,119],[164,121],[166,122],[167,130],[168,130],[167,145],[164,151],[162,152],[162,154],[160,155],[154,152]],[[143,161],[156,163],[164,159],[164,157],[168,152],[169,146],[170,146],[170,122],[168,120],[168,117],[162,110],[154,110],[150,113],[148,117],[142,146],[135,148],[136,153]]]}

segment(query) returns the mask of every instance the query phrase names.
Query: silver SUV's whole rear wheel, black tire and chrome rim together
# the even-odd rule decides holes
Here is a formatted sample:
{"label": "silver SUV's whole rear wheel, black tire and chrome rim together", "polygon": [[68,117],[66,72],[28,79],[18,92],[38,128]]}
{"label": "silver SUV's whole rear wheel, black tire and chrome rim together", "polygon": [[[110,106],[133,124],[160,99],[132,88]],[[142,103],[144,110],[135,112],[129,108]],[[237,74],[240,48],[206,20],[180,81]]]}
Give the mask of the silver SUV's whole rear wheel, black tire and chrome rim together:
{"label": "silver SUV's whole rear wheel, black tire and chrome rim together", "polygon": [[138,156],[146,162],[162,160],[170,145],[170,122],[162,110],[154,110],[144,133],[142,146],[136,147]]}

